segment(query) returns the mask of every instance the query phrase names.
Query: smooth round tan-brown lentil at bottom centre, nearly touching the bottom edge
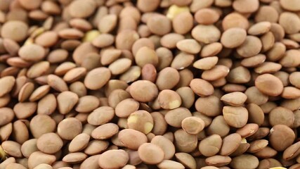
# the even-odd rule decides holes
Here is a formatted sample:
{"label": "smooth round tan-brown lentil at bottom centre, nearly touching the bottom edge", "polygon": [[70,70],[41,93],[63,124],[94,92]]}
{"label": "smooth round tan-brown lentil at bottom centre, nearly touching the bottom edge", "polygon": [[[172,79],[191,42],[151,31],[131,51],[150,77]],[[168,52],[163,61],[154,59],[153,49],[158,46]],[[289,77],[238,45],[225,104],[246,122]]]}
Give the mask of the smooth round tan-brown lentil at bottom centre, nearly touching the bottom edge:
{"label": "smooth round tan-brown lentil at bottom centre, nearly touching the bottom edge", "polygon": [[152,143],[144,143],[138,148],[138,156],[144,163],[157,164],[164,160],[164,151]]}

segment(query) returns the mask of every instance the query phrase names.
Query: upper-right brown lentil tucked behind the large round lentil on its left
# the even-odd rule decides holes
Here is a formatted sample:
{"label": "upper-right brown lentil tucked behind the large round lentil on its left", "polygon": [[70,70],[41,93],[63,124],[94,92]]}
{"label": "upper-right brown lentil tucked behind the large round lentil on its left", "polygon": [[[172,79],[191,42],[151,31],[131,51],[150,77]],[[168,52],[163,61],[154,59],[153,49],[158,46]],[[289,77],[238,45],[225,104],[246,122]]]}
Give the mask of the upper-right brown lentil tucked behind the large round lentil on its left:
{"label": "upper-right brown lentil tucked behind the large round lentil on its left", "polygon": [[247,58],[259,54],[261,48],[261,40],[258,37],[247,36],[244,43],[237,48],[237,54]]}

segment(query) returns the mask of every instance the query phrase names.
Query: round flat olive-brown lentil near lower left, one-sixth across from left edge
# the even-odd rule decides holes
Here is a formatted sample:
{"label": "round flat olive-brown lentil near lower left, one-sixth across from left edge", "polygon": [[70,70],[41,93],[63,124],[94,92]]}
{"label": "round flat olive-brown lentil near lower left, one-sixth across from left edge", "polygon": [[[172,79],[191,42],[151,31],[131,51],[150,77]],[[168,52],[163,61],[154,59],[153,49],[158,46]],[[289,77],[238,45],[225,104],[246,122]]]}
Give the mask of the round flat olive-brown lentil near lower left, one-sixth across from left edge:
{"label": "round flat olive-brown lentil near lower left, one-sixth across from left edge", "polygon": [[46,154],[55,154],[63,147],[63,140],[58,134],[49,132],[37,139],[37,148]]}

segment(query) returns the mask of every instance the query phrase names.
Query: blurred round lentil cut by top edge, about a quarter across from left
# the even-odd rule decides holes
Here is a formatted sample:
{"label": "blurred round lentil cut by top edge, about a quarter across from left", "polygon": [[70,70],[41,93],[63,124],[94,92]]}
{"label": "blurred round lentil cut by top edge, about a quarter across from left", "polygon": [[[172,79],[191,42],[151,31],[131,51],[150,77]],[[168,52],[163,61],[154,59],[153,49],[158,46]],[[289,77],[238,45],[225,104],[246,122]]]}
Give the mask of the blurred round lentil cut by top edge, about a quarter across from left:
{"label": "blurred round lentil cut by top edge, about a quarter across from left", "polygon": [[96,9],[96,3],[94,1],[88,0],[78,0],[72,1],[69,6],[69,13],[74,18],[87,18]]}

